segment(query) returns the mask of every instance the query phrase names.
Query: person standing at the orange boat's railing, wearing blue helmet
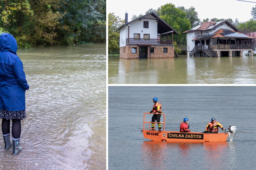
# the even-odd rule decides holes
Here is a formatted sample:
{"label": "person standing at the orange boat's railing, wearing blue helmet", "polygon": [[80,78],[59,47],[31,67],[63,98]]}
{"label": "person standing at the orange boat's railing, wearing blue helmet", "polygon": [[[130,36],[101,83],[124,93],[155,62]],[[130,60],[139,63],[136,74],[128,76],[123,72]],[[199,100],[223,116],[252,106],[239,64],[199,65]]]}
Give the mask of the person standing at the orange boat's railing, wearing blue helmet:
{"label": "person standing at the orange boat's railing, wearing blue helmet", "polygon": [[[161,105],[161,103],[158,103],[157,101],[158,101],[158,98],[156,98],[156,97],[153,98],[153,102],[155,104],[153,106],[153,109],[150,111],[150,113],[156,113],[156,114],[153,114],[151,122],[155,122],[157,120],[157,122],[158,122],[158,131],[162,131],[161,130],[161,123],[160,123],[161,114],[159,114],[159,113],[162,113],[162,105]],[[152,130],[155,130],[155,124],[154,123],[151,123],[151,127],[153,128]]]}

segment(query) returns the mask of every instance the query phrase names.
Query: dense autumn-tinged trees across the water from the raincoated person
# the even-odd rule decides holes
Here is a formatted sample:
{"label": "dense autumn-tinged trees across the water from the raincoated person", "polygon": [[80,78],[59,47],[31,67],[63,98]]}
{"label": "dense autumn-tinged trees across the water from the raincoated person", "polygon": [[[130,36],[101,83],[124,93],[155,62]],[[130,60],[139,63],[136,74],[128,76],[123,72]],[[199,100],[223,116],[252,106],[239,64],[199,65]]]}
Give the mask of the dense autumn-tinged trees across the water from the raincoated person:
{"label": "dense autumn-tinged trees across the water from the raincoated person", "polygon": [[106,0],[0,0],[0,34],[19,48],[106,41]]}

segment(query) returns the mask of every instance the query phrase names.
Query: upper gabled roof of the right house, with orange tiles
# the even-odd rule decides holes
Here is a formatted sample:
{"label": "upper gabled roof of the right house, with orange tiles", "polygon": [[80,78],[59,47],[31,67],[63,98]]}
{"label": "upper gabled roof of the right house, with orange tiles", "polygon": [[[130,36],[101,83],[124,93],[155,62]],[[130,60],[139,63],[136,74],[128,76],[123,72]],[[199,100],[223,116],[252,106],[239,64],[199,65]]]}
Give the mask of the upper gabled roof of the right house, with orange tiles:
{"label": "upper gabled roof of the right house, with orange tiles", "polygon": [[193,32],[193,31],[209,31],[209,30],[214,30],[216,29],[218,26],[222,25],[223,23],[226,23],[228,26],[230,26],[231,28],[233,28],[235,31],[240,31],[238,30],[232,23],[230,23],[227,20],[223,20],[223,21],[219,21],[219,22],[215,22],[215,23],[211,23],[211,22],[204,22],[200,25],[197,25],[194,28],[191,28],[190,30],[187,30],[183,33],[188,33],[188,32]]}

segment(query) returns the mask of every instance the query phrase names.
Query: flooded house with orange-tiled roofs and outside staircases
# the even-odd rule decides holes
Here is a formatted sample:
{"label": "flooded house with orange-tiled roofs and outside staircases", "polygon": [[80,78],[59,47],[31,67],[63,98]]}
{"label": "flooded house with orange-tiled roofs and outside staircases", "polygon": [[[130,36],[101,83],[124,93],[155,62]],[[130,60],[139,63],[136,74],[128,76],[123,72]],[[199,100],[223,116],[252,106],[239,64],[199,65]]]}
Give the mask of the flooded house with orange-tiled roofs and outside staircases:
{"label": "flooded house with orange-tiled roofs and outside staircases", "polygon": [[190,30],[187,34],[188,56],[243,56],[243,51],[250,51],[253,56],[252,40],[256,38],[239,33],[227,20],[204,22]]}

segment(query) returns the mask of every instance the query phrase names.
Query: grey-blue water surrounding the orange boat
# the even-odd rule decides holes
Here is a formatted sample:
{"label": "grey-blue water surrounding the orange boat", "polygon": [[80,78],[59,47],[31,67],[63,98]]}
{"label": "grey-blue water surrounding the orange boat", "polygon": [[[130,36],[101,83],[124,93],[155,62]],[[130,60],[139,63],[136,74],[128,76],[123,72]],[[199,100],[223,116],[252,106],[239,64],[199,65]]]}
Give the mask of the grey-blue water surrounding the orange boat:
{"label": "grey-blue water surrounding the orange boat", "polygon": [[[237,126],[234,141],[145,139],[143,114],[151,111],[154,97],[166,114],[166,131],[179,131],[183,118],[188,118],[192,132],[203,132],[216,118],[225,129]],[[109,86],[109,169],[254,169],[255,99],[255,86]]]}

